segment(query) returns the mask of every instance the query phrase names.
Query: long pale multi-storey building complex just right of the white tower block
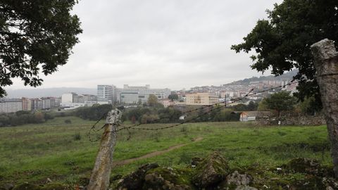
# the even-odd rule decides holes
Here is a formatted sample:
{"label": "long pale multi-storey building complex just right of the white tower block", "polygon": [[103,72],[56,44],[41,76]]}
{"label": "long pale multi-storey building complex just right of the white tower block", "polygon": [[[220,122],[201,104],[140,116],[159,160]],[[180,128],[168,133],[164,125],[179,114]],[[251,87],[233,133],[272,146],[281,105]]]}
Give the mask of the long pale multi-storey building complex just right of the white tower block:
{"label": "long pale multi-storey building complex just right of the white tower block", "polygon": [[167,99],[170,89],[151,89],[149,84],[144,87],[130,87],[128,84],[120,89],[120,103],[146,103],[149,95],[154,94],[158,99]]}

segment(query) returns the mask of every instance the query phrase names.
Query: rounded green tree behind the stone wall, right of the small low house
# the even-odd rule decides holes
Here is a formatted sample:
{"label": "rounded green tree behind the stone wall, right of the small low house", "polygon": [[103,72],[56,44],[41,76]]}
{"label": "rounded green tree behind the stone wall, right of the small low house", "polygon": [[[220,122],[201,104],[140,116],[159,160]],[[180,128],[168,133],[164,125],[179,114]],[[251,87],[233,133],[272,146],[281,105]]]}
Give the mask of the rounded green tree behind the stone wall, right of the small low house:
{"label": "rounded green tree behind the stone wall, right of the small low house", "polygon": [[291,96],[287,91],[280,91],[272,94],[264,99],[266,106],[271,110],[277,110],[280,117],[280,112],[283,110],[292,110],[296,104],[296,98]]}

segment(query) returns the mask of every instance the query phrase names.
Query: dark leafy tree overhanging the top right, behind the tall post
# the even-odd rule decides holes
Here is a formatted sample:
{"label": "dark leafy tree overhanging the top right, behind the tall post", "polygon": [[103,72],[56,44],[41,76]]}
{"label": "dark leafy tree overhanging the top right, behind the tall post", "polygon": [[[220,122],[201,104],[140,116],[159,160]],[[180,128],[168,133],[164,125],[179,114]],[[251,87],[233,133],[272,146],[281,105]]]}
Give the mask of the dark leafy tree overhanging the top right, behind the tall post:
{"label": "dark leafy tree overhanging the top right, behind the tall post", "polygon": [[244,42],[232,49],[237,53],[256,51],[251,68],[260,72],[272,68],[274,75],[282,75],[297,68],[295,79],[300,82],[295,95],[301,100],[314,96],[320,107],[310,46],[325,38],[338,41],[338,1],[284,0],[267,13],[268,20],[258,20]]}

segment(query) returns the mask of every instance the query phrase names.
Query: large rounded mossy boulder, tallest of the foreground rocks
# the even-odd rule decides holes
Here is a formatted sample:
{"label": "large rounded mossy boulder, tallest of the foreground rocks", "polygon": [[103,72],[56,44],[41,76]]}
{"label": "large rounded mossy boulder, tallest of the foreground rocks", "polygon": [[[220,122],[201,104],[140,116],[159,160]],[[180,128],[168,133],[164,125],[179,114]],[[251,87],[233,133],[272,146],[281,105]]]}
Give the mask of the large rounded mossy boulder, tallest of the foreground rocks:
{"label": "large rounded mossy boulder, tallest of the foreground rocks", "polygon": [[213,152],[197,165],[192,182],[201,189],[217,186],[229,173],[227,160],[219,152]]}

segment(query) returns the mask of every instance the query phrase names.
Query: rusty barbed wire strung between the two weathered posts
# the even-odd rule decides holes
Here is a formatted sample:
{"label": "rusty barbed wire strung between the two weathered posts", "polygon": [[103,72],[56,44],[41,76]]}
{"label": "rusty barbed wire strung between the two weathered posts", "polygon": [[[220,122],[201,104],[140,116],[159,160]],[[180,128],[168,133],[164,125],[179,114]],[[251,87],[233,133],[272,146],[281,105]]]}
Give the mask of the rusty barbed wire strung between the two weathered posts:
{"label": "rusty barbed wire strung between the two weathered posts", "polygon": [[[131,125],[131,126],[123,126],[123,125],[117,125],[117,129],[114,131],[114,132],[120,132],[120,131],[123,131],[123,130],[127,130],[128,134],[129,134],[129,137],[127,138],[127,140],[130,139],[131,137],[131,132],[130,132],[130,129],[137,129],[137,130],[148,130],[148,131],[156,131],[156,130],[162,130],[162,129],[169,129],[169,128],[173,128],[173,127],[178,127],[180,125],[183,125],[187,122],[191,122],[191,121],[194,121],[196,119],[199,119],[201,118],[202,116],[208,114],[208,113],[211,113],[212,111],[214,110],[218,110],[220,108],[225,108],[226,106],[229,106],[230,104],[233,104],[233,103],[237,103],[238,101],[242,101],[243,99],[246,99],[247,97],[249,96],[253,96],[253,95],[256,95],[256,94],[261,94],[261,93],[264,93],[266,91],[271,91],[271,90],[274,90],[274,89],[283,89],[289,85],[292,85],[292,84],[296,84],[298,83],[298,81],[296,81],[296,79],[293,79],[291,80],[290,82],[288,82],[287,84],[283,84],[283,85],[280,85],[280,86],[277,86],[277,87],[272,87],[270,89],[264,89],[264,90],[261,90],[261,91],[253,91],[254,88],[250,89],[248,93],[246,93],[244,96],[242,97],[239,97],[239,98],[235,98],[235,99],[230,99],[229,101],[220,101],[218,103],[213,103],[211,105],[203,105],[201,108],[195,108],[195,109],[192,109],[192,110],[187,110],[187,111],[184,111],[181,113],[181,115],[185,115],[186,113],[192,113],[196,110],[203,110],[204,108],[210,108],[210,110],[200,114],[200,115],[197,115],[196,117],[194,118],[191,118],[189,120],[184,120],[182,122],[179,122],[179,123],[176,123],[175,125],[169,125],[169,126],[166,126],[166,127],[159,127],[159,128],[147,128],[147,127],[139,127],[140,125],[145,125],[144,123],[138,123],[138,124],[135,124],[135,125]],[[223,105],[222,105],[223,104]],[[220,106],[222,105],[222,106]],[[216,106],[216,107],[214,107]],[[99,132],[101,129],[104,129],[104,126],[102,126],[100,129],[98,130],[95,130],[95,125],[102,119],[104,118],[104,116],[106,115],[107,113],[105,113],[104,115],[102,115],[102,117],[95,122],[95,124],[91,127],[91,129],[89,129],[89,132],[88,132],[88,137],[89,137],[89,141],[99,141],[100,138],[97,138],[95,140],[91,139],[91,132],[94,131],[94,132]],[[163,117],[163,118],[159,118],[157,120],[154,120],[154,121],[158,121],[158,120],[164,120],[164,119],[169,119],[169,118],[172,118],[172,116],[167,116],[167,117]],[[153,122],[154,122],[153,121]],[[121,127],[121,128],[120,128]],[[109,132],[105,132],[105,133],[109,133]]]}

